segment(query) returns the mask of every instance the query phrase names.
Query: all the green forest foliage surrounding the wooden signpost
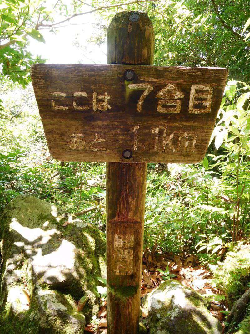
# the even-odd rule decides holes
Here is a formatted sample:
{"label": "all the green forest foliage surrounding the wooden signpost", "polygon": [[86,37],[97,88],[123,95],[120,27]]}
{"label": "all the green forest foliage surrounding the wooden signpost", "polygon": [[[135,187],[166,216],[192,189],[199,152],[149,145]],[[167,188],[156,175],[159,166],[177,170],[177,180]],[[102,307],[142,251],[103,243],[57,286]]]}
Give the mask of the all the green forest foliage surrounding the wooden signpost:
{"label": "all the green forest foliage surrounding the wooden signpost", "polygon": [[[148,164],[144,255],[195,253],[214,272],[228,303],[249,276],[236,259],[236,241],[250,235],[250,2],[249,0],[0,1],[0,214],[19,194],[34,195],[106,230],[106,167],[60,162],[48,151],[30,85],[30,67],[45,61],[29,40],[45,42],[75,16],[93,12],[91,41],[105,43],[117,10],[146,11],[155,29],[155,65],[229,69],[229,81],[206,156],[196,164]],[[79,43],[80,46],[80,43]],[[20,85],[23,88],[20,88]],[[235,248],[236,247],[236,248]],[[228,253],[231,272],[220,260]],[[227,261],[227,260],[226,260]],[[233,262],[234,263],[234,262]],[[222,282],[221,277],[230,274]],[[164,277],[170,278],[166,268]]]}

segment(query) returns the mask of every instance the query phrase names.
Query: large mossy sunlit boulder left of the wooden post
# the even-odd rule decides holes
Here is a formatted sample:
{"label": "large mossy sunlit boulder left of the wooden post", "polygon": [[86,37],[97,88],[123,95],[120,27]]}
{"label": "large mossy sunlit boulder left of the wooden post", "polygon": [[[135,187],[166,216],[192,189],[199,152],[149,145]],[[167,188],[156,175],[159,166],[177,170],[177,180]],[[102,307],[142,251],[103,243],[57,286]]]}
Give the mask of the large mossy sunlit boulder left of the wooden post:
{"label": "large mossy sunlit boulder left of the wooden post", "polygon": [[0,218],[0,246],[0,332],[83,333],[85,317],[99,309],[96,278],[106,275],[103,234],[55,205],[18,196]]}

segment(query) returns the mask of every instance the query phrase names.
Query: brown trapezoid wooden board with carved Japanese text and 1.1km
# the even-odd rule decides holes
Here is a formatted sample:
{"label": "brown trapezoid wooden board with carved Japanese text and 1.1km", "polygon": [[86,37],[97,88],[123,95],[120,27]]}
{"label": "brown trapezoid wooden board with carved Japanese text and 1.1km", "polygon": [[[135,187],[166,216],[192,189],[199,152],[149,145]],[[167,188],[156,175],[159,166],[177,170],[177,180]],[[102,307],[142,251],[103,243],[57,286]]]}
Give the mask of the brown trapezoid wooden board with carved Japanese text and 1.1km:
{"label": "brown trapezoid wooden board with carved Japanese text and 1.1km", "polygon": [[35,64],[31,78],[55,159],[195,163],[206,153],[227,73],[206,67]]}

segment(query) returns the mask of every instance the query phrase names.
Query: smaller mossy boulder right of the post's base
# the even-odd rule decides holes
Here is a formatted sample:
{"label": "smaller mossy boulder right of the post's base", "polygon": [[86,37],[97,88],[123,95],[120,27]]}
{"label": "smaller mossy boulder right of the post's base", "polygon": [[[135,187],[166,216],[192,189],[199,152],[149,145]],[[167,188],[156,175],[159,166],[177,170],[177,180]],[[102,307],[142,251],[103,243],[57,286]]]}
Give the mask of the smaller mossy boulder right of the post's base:
{"label": "smaller mossy boulder right of the post's base", "polygon": [[222,326],[197,292],[168,280],[143,302],[150,334],[221,334]]}

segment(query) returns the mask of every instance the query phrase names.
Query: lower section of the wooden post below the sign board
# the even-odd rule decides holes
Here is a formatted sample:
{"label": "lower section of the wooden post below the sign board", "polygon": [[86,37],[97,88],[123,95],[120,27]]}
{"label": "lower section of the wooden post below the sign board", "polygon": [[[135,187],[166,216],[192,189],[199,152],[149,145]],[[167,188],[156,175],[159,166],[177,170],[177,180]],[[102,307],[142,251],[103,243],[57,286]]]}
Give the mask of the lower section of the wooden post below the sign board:
{"label": "lower section of the wooden post below the sign board", "polygon": [[139,332],[146,163],[107,163],[108,334]]}

